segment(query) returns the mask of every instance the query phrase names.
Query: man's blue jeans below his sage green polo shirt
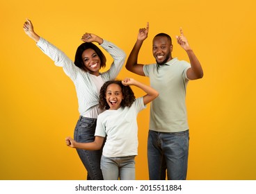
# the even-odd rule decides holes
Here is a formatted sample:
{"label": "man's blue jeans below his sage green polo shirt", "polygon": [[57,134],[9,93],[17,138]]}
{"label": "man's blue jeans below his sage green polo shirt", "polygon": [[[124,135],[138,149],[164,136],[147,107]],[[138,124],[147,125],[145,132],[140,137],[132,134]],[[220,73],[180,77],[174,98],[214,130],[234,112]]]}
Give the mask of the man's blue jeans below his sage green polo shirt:
{"label": "man's blue jeans below his sage green polo shirt", "polygon": [[147,162],[150,180],[185,180],[189,157],[189,130],[148,133]]}

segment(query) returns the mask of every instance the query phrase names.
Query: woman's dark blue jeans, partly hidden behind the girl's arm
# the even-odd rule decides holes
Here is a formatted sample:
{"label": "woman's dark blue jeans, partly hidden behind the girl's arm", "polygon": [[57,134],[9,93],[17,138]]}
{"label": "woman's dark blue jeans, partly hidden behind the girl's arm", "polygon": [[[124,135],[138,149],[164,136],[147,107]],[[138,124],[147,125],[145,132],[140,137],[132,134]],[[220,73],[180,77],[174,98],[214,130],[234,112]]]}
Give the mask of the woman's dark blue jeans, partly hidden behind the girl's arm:
{"label": "woman's dark blue jeans, partly hidden behind the girl's arm", "polygon": [[[76,128],[74,129],[74,140],[77,142],[88,143],[95,139],[96,118],[79,117]],[[100,169],[100,158],[102,150],[91,151],[77,149],[77,153],[87,170],[88,180],[103,180],[102,170]]]}

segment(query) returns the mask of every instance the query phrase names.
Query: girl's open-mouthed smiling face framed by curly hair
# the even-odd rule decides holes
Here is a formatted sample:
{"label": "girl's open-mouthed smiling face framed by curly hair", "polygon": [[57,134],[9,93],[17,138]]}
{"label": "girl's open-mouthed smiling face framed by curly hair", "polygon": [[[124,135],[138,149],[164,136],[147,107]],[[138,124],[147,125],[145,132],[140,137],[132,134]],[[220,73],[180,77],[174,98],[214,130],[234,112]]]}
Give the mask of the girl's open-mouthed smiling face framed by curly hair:
{"label": "girl's open-mouthed smiling face framed by curly hair", "polygon": [[122,99],[122,89],[120,85],[111,84],[106,88],[106,103],[109,105],[109,109],[119,109],[121,107]]}

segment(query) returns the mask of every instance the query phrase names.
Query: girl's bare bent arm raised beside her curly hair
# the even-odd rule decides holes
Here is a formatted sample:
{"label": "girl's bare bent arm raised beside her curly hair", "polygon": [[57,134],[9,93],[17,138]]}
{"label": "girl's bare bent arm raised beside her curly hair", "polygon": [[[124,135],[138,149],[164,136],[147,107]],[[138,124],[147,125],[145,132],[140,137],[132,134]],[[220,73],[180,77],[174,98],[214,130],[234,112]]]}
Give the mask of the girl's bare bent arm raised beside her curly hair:
{"label": "girl's bare bent arm raised beside her curly hair", "polygon": [[152,100],[154,100],[154,98],[157,98],[157,96],[159,96],[159,93],[157,90],[141,82],[138,82],[137,80],[134,80],[132,78],[125,78],[125,80],[122,81],[122,85],[125,85],[125,86],[134,85],[138,88],[141,88],[143,91],[145,91],[146,95],[143,96],[144,105],[147,105],[147,103],[150,103]]}

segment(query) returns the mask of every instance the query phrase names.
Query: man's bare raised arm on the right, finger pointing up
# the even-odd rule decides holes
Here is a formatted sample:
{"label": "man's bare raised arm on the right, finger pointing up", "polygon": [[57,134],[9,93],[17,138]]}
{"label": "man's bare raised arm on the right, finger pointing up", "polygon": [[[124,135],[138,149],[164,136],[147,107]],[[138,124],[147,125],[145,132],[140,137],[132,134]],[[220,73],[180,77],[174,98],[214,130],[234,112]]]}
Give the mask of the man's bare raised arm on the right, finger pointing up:
{"label": "man's bare raised arm on the right, finger pointing up", "polygon": [[189,46],[189,42],[184,37],[183,30],[180,28],[180,35],[176,36],[177,43],[184,48],[187,55],[189,56],[189,61],[191,64],[191,68],[186,71],[186,76],[189,78],[189,80],[197,80],[202,78],[204,75],[202,71],[201,64],[198,60],[198,58],[195,56],[195,53],[193,52],[192,48]]}

